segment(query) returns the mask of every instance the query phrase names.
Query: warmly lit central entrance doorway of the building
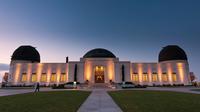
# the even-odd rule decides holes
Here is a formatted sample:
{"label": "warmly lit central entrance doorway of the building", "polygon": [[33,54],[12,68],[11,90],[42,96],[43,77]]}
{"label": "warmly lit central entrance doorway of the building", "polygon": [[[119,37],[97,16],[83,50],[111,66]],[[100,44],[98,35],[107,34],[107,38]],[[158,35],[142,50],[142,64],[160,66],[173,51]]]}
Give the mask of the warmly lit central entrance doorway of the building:
{"label": "warmly lit central entrance doorway of the building", "polygon": [[94,73],[95,73],[95,83],[104,83],[104,67],[96,66]]}

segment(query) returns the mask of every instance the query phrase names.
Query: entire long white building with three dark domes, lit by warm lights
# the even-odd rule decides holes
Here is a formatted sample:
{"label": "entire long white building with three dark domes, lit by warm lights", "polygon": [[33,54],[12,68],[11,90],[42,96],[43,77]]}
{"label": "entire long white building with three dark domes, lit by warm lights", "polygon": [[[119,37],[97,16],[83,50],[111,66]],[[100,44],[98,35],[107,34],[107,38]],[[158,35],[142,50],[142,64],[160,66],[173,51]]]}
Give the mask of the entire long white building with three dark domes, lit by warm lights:
{"label": "entire long white building with three dark domes, lit by warm lights", "polygon": [[87,52],[80,61],[40,63],[40,54],[32,46],[20,46],[11,58],[10,85],[44,85],[66,82],[121,83],[141,85],[190,84],[189,64],[183,49],[176,45],[164,47],[155,63],[119,61],[112,52],[97,48]]}

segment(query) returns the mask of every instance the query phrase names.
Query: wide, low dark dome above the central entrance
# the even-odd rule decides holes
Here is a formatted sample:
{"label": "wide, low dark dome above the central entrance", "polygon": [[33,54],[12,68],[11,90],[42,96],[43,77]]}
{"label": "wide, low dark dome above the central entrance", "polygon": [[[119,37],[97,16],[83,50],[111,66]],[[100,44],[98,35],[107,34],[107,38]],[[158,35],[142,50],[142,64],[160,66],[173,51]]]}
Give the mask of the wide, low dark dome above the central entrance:
{"label": "wide, low dark dome above the central entrance", "polygon": [[96,48],[87,52],[83,58],[116,58],[116,56],[106,49]]}

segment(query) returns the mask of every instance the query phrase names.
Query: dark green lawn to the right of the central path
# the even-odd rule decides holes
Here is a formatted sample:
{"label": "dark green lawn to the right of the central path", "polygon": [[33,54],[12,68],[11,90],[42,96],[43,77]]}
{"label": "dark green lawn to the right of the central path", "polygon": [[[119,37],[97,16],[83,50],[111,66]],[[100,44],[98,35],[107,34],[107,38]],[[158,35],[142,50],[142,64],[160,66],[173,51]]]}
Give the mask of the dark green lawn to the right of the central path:
{"label": "dark green lawn to the right of the central path", "polygon": [[200,112],[200,95],[164,91],[109,92],[124,112]]}

